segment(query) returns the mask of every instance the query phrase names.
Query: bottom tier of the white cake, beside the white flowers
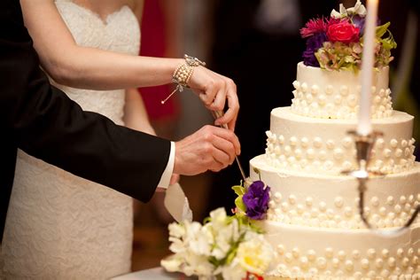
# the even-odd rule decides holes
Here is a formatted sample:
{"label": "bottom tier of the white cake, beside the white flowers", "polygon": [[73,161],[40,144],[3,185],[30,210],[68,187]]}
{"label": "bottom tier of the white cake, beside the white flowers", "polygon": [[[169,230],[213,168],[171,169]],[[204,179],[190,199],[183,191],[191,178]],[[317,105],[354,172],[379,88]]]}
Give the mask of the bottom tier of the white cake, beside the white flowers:
{"label": "bottom tier of the white cake, beside the white flowers", "polygon": [[[420,224],[397,236],[368,229],[315,229],[262,222],[276,248],[268,276],[420,279]],[[386,232],[386,231],[385,231]]]}

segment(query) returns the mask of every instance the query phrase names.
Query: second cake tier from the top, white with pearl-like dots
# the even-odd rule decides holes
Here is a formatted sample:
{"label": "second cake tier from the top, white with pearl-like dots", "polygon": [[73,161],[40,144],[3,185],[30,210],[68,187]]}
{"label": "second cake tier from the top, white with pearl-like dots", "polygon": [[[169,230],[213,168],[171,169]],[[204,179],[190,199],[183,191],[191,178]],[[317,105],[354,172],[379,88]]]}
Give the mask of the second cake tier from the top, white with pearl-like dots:
{"label": "second cake tier from the top, white with pearl-like dots", "polygon": [[[413,167],[413,117],[394,111],[372,125],[384,135],[373,148],[370,169],[392,174]],[[308,118],[292,113],[291,107],[276,108],[267,132],[267,163],[305,173],[338,175],[356,167],[354,140],[347,134],[355,128],[355,120]]]}

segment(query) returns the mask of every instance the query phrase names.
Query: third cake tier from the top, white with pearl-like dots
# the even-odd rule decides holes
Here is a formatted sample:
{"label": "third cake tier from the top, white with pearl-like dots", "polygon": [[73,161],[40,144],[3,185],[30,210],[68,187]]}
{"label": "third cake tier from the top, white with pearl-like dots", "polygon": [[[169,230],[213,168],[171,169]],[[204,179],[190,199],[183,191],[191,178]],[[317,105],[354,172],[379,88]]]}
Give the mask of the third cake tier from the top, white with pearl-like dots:
{"label": "third cake tier from the top, white with pearl-like dots", "polygon": [[[353,177],[274,168],[266,164],[263,155],[251,159],[250,165],[250,178],[261,177],[270,187],[269,221],[311,228],[365,229],[359,214],[358,183]],[[364,198],[368,220],[380,228],[401,227],[420,205],[419,182],[418,162],[407,172],[369,179]]]}

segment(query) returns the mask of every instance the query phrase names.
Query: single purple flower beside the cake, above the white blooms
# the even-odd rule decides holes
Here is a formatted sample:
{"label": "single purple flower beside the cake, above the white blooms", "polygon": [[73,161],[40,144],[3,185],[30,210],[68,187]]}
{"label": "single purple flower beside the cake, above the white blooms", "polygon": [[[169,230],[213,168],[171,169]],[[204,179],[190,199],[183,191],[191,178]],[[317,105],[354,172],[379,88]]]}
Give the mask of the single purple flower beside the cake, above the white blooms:
{"label": "single purple flower beside the cake, above the white blooms", "polygon": [[253,220],[262,220],[268,210],[269,187],[264,188],[261,181],[253,182],[242,200],[246,206],[246,215]]}

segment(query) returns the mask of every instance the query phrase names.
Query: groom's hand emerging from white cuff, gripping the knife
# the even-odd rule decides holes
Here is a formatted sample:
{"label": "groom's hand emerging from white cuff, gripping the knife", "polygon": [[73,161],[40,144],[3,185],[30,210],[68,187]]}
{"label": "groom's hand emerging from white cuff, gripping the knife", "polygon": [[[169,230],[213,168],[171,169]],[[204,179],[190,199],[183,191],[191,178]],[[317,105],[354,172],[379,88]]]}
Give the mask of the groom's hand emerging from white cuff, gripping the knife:
{"label": "groom's hand emerging from white cuff, gripping the knife", "polygon": [[206,125],[175,143],[174,173],[197,175],[219,171],[232,164],[240,153],[237,136],[229,129]]}

